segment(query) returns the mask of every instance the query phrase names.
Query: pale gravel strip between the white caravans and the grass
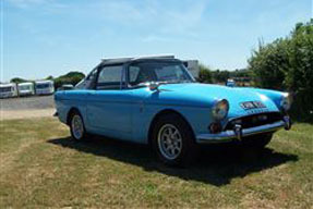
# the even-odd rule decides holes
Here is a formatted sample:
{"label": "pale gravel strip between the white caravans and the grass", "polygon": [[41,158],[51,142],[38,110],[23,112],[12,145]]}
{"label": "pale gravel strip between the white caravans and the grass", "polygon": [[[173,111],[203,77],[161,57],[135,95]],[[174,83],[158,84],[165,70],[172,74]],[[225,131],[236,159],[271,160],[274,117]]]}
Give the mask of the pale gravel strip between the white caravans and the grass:
{"label": "pale gravel strip between the white caravans and the grass", "polygon": [[0,121],[52,116],[55,112],[53,96],[0,99]]}

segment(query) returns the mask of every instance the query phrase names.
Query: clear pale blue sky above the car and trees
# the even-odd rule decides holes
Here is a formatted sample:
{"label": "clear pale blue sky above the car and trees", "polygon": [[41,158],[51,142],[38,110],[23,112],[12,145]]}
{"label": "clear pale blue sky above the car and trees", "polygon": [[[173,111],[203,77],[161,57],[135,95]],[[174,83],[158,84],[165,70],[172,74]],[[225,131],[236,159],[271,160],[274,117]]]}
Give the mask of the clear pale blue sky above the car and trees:
{"label": "clear pale blue sky above the car and trees", "polygon": [[1,81],[91,71],[101,58],[172,53],[241,69],[312,0],[1,0]]}

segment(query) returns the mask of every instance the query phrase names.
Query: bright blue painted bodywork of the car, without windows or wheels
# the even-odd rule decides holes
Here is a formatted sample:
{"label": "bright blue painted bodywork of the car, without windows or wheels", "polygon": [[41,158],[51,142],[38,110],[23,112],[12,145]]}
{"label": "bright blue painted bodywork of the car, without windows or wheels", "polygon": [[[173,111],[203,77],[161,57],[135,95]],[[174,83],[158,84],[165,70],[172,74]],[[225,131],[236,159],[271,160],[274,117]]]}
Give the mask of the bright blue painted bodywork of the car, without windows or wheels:
{"label": "bright blue painted bodywork of the car, without windows or wheels", "polygon": [[[228,116],[221,122],[260,112],[278,112],[282,93],[275,90],[226,87],[198,83],[167,84],[158,90],[148,87],[118,90],[69,90],[56,93],[60,121],[67,123],[69,111],[76,108],[86,131],[93,134],[147,144],[148,131],[157,113],[180,113],[195,135],[208,133],[214,121],[212,107],[219,99],[229,101]],[[262,101],[266,108],[244,110],[244,101]]]}

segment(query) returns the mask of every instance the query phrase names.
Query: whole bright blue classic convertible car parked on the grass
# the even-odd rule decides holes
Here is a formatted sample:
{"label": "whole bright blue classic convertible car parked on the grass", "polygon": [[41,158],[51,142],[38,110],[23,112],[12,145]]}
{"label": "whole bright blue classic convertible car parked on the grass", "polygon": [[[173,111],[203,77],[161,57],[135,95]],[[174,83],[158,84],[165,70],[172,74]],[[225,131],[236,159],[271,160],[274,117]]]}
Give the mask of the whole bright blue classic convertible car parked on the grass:
{"label": "whole bright blue classic convertible car parked on the grass", "polygon": [[151,144],[171,165],[190,162],[201,144],[262,148],[274,132],[291,126],[288,94],[200,84],[170,57],[103,60],[55,100],[75,140],[97,134]]}

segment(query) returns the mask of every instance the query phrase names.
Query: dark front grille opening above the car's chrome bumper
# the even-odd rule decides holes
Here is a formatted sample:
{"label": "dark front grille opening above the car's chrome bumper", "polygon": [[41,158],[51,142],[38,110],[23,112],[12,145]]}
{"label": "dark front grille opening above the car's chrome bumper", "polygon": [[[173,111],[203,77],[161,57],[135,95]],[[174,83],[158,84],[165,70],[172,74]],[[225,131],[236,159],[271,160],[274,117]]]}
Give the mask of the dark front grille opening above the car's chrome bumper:
{"label": "dark front grille opening above the car's chrome bumper", "polygon": [[279,112],[267,112],[260,114],[252,114],[242,118],[236,118],[230,120],[225,130],[233,130],[236,124],[240,124],[242,128],[255,127],[260,125],[265,125],[269,123],[275,123],[282,120],[282,115]]}

